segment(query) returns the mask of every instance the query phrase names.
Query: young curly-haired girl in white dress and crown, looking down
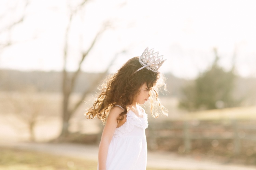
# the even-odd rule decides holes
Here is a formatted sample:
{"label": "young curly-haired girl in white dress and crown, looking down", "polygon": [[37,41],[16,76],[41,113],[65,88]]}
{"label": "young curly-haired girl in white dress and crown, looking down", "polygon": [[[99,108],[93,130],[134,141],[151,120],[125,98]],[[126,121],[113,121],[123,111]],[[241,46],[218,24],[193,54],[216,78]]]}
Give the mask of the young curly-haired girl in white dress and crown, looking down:
{"label": "young curly-haired girl in white dress and crown, looking down", "polygon": [[[87,118],[98,117],[105,124],[99,145],[98,170],[145,170],[147,144],[145,129],[147,114],[139,104],[150,99],[158,102],[158,87],[162,75],[158,68],[163,56],[145,49],[140,57],[128,60],[102,88]],[[165,85],[162,83],[161,85]],[[164,113],[164,112],[163,112]],[[108,118],[106,120],[106,118]]]}

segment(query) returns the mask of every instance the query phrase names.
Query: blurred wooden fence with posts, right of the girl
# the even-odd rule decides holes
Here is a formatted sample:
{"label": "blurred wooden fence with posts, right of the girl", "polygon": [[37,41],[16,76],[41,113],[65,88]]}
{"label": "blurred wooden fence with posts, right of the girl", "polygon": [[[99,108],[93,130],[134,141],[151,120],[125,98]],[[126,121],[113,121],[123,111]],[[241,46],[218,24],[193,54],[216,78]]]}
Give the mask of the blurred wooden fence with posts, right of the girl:
{"label": "blurred wooden fence with posts, right of the girl", "polygon": [[148,147],[151,150],[162,145],[158,139],[179,139],[183,143],[185,152],[190,152],[191,141],[231,140],[234,154],[241,153],[241,141],[256,141],[256,122],[251,120],[211,120],[211,121],[164,121],[150,122],[147,132]]}

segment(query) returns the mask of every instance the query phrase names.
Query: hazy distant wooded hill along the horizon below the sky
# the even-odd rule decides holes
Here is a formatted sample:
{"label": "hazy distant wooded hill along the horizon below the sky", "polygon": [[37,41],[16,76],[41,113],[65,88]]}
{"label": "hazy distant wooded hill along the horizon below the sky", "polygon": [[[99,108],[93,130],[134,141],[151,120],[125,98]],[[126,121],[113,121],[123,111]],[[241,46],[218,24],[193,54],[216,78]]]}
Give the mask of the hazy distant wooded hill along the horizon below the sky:
{"label": "hazy distant wooded hill along the horizon below the sky", "polygon": [[[82,93],[89,86],[94,85],[95,90],[100,82],[95,80],[99,73],[81,72],[74,92]],[[193,82],[193,80],[180,79],[171,73],[165,73],[168,97],[180,97],[181,87]],[[37,91],[61,92],[62,72],[44,71],[17,71],[0,70],[0,91],[19,91],[28,88],[35,88]],[[160,94],[162,95],[162,94]],[[238,77],[235,84],[234,97],[245,99],[244,105],[256,103],[256,78]]]}

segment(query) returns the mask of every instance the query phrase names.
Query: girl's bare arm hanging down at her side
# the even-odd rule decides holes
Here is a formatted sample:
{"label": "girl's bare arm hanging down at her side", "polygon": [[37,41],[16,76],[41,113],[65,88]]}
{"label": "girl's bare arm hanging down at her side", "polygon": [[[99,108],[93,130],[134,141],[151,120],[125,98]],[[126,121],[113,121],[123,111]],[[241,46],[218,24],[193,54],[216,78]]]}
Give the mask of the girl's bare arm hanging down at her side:
{"label": "girl's bare arm hanging down at her side", "polygon": [[99,170],[106,169],[106,158],[108,155],[109,144],[117,127],[117,117],[121,112],[123,112],[123,109],[119,107],[113,107],[109,112],[108,120],[106,121],[103,129],[99,145]]}

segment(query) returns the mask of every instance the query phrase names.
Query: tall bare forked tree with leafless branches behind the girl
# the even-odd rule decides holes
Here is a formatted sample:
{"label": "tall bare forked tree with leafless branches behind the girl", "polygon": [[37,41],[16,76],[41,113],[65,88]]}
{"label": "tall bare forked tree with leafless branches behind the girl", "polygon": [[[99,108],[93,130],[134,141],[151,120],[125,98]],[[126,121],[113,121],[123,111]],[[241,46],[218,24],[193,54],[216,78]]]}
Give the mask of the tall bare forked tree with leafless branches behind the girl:
{"label": "tall bare forked tree with leafless branches behind the girl", "polygon": [[113,61],[115,60],[115,58],[117,57],[117,55],[113,58],[113,60],[110,62],[110,65],[108,66],[108,68],[105,70],[104,73],[100,74],[99,77],[97,78],[97,80],[95,80],[94,85],[90,86],[88,89],[86,89],[83,94],[81,95],[81,99],[79,101],[77,101],[77,103],[75,103],[74,105],[71,106],[71,102],[70,102],[70,96],[74,90],[75,87],[75,83],[77,78],[79,77],[79,74],[81,72],[81,65],[84,62],[85,58],[88,56],[89,52],[93,49],[93,47],[95,46],[95,43],[97,42],[97,40],[99,39],[99,36],[106,30],[109,28],[110,24],[109,22],[105,22],[102,26],[102,28],[99,30],[99,32],[95,35],[93,41],[90,43],[89,47],[87,48],[86,51],[81,52],[81,57],[77,66],[77,69],[73,72],[70,73],[67,71],[67,57],[68,57],[68,36],[70,33],[70,27],[72,25],[72,20],[75,16],[75,14],[81,10],[85,4],[86,4],[87,0],[84,0],[80,5],[78,5],[73,11],[70,12],[70,16],[69,16],[69,22],[66,28],[66,34],[65,34],[65,47],[64,47],[64,55],[63,55],[63,59],[64,59],[64,66],[63,66],[63,77],[62,77],[62,95],[63,95],[63,101],[62,101],[62,131],[61,134],[59,136],[59,139],[63,139],[65,138],[68,134],[68,128],[69,128],[69,120],[72,117],[72,115],[75,113],[75,111],[77,110],[77,108],[79,108],[79,106],[81,105],[81,101],[83,101],[85,99],[85,97],[87,96],[87,94],[89,94],[91,91],[93,91],[96,87],[95,84],[97,84],[108,72],[111,64],[113,63]]}

